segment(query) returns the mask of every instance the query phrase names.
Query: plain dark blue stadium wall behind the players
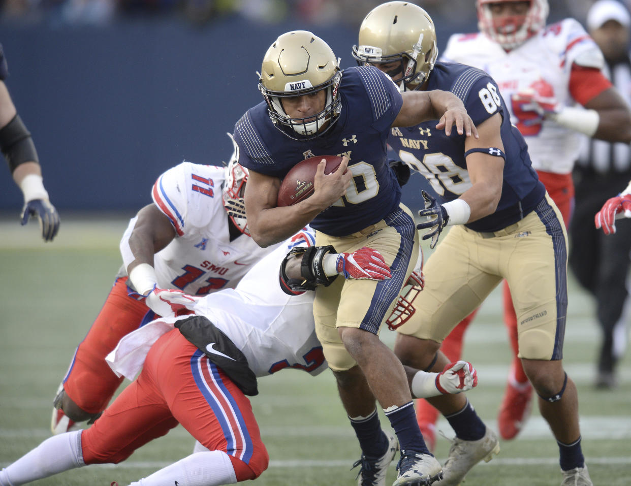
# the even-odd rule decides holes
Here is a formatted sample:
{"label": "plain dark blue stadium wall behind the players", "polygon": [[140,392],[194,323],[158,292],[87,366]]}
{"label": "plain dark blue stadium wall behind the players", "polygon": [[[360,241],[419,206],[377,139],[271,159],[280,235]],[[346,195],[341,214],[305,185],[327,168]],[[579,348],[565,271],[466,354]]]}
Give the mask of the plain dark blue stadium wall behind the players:
{"label": "plain dark blue stadium wall behind the players", "polygon": [[[262,96],[256,71],[274,38],[307,28],[355,64],[357,32],[237,16],[204,28],[127,21],[100,28],[3,26],[6,84],[33,134],[52,202],[63,212],[136,211],[151,202],[156,177],[186,159],[220,165],[232,153],[226,132]],[[473,26],[475,28],[475,26]],[[439,30],[446,42],[451,32]],[[439,44],[440,45],[440,44]],[[421,204],[415,175],[404,202]],[[8,170],[0,211],[21,208]]]}

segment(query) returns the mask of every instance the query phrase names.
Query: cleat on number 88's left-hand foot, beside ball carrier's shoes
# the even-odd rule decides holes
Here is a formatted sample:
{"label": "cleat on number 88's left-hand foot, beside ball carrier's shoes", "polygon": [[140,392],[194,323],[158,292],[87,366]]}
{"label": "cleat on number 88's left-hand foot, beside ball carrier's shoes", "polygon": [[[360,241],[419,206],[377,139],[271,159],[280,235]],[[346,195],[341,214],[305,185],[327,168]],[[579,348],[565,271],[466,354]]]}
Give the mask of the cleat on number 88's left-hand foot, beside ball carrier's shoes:
{"label": "cleat on number 88's left-hand foot, beside ball carrier's shoes", "polygon": [[487,427],[484,437],[477,441],[464,441],[456,437],[449,448],[449,456],[443,466],[444,475],[437,486],[458,486],[466,473],[481,460],[492,460],[500,451],[497,434]]}

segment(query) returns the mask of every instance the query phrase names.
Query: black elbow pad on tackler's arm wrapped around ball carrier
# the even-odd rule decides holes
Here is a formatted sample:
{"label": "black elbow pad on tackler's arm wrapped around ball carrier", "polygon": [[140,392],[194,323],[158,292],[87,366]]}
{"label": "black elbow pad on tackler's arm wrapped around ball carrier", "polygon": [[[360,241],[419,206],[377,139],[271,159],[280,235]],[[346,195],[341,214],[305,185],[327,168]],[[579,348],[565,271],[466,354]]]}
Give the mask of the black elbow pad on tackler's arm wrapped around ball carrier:
{"label": "black elbow pad on tackler's arm wrapped around ball carrier", "polygon": [[[292,248],[283,258],[283,262],[280,265],[279,280],[283,292],[289,295],[298,295],[308,290],[315,290],[315,287],[319,285],[325,287],[331,285],[338,275],[327,277],[324,273],[322,260],[327,253],[336,253],[335,248],[332,245]],[[302,261],[300,262],[300,275],[302,278],[290,279],[286,274],[285,267],[290,258],[294,258],[297,255],[302,255]]]}

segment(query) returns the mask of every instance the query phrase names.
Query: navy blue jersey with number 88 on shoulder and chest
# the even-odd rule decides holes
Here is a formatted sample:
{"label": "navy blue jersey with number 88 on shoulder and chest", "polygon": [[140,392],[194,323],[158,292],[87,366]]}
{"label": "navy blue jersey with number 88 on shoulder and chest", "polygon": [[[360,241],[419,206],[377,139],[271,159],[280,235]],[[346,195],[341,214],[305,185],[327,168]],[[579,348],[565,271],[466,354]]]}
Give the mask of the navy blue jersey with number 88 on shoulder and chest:
{"label": "navy blue jersey with number 88 on shoulder and chest", "polygon": [[[540,202],[545,188],[531,166],[528,146],[519,130],[510,124],[509,112],[497,84],[486,72],[464,64],[437,63],[427,90],[451,91],[463,100],[476,125],[500,113],[501,136],[506,154],[502,197],[497,210],[466,226],[475,231],[497,231],[516,223]],[[444,201],[457,199],[469,187],[464,159],[466,136],[454,128],[447,137],[435,129],[436,122],[391,129],[388,143],[399,158],[420,172]]]}

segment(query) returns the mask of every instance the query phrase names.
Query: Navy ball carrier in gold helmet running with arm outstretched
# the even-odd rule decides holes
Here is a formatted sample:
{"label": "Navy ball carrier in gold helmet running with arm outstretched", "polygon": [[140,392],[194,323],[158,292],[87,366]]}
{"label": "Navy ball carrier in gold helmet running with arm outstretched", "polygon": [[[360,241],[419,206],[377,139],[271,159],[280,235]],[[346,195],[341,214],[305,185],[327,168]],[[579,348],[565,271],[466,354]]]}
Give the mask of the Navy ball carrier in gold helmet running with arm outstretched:
{"label": "Navy ball carrier in gold helmet running with arm outstretched", "polygon": [[[444,91],[404,93],[370,66],[342,71],[324,40],[287,32],[264,55],[259,89],[264,102],[235,124],[239,163],[249,170],[245,211],[261,246],[282,241],[310,224],[316,245],[352,253],[367,246],[382,255],[392,277],[336,279],[323,268],[315,291],[315,332],[338,383],[339,395],[362,449],[359,484],[383,485],[401,448],[401,485],[430,484],[442,468],[416,424],[403,365],[379,339],[379,328],[418,256],[414,218],[401,205],[401,188],[386,161],[392,126],[425,120],[432,129],[477,135],[462,101]],[[452,130],[452,126],[456,128]],[[338,170],[317,166],[314,192],[297,204],[278,205],[281,181],[302,159],[338,155]],[[382,431],[375,399],[396,437]]]}

